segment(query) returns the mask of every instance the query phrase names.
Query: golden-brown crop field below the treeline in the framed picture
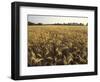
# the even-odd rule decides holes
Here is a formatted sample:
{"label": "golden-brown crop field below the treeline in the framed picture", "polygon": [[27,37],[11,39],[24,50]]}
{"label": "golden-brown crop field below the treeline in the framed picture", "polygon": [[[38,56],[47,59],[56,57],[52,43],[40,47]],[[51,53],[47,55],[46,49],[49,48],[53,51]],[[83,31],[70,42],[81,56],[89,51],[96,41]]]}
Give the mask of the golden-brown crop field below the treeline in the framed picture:
{"label": "golden-brown crop field below the treeline in the framed picture", "polygon": [[88,63],[87,26],[28,26],[28,66]]}

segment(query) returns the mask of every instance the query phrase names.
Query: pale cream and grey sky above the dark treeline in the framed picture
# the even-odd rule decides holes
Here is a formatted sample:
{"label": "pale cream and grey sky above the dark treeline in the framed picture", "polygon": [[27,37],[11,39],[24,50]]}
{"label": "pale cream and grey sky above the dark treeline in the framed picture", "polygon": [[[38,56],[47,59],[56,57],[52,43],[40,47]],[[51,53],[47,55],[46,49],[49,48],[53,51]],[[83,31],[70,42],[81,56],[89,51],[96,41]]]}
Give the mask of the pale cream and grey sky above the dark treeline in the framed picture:
{"label": "pale cream and grey sky above the dark treeline in the framed picture", "polygon": [[69,16],[48,16],[48,15],[28,15],[28,21],[33,23],[54,24],[54,23],[88,23],[87,17]]}

